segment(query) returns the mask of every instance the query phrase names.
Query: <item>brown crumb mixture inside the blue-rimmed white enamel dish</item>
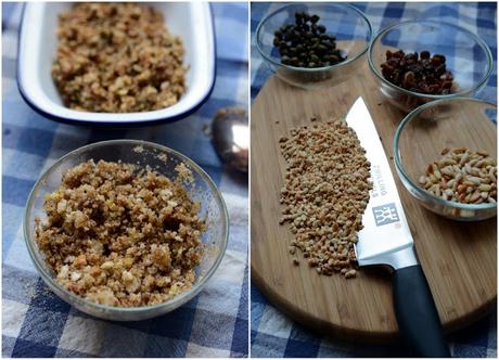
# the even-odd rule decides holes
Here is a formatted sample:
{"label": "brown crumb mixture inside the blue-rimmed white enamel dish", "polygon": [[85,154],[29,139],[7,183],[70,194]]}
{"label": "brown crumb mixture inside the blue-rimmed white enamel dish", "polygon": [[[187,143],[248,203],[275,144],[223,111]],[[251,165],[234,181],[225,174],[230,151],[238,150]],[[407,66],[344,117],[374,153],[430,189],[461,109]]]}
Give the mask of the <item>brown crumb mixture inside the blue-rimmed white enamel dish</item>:
{"label": "brown crumb mixture inside the blue-rimmed white enamel dish", "polygon": [[59,18],[52,78],[73,110],[132,113],[185,92],[183,44],[163,15],[135,3],[78,3]]}

